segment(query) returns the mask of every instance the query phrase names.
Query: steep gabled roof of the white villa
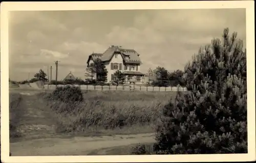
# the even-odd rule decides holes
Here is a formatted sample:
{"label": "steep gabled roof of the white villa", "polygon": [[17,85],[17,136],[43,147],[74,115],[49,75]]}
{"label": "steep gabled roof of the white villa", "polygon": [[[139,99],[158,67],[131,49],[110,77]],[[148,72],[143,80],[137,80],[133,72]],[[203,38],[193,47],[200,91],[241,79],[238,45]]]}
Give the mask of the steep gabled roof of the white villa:
{"label": "steep gabled roof of the white villa", "polygon": [[114,56],[115,52],[120,52],[123,58],[123,61],[126,63],[141,63],[139,58],[139,53],[137,53],[134,49],[124,49],[119,46],[111,46],[106,49],[103,53],[92,53],[87,63],[90,62],[91,59],[100,59],[103,62],[110,61]]}

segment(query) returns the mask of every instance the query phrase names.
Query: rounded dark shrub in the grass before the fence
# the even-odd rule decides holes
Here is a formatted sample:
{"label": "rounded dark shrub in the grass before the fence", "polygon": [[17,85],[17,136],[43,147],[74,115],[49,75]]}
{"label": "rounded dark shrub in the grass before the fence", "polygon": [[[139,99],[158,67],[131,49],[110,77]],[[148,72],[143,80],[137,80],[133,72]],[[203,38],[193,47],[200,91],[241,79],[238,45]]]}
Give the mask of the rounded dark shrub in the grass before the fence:
{"label": "rounded dark shrub in the grass before the fence", "polygon": [[52,93],[52,99],[60,100],[61,102],[83,101],[82,91],[79,87],[64,86],[57,87]]}

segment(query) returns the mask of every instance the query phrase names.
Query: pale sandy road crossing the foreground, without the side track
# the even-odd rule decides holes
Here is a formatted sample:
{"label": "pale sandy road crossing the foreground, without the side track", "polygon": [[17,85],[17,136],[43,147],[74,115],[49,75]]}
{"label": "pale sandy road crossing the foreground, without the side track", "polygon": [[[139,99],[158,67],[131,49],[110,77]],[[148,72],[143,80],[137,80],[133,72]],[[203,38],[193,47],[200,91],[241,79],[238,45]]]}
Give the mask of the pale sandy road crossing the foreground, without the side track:
{"label": "pale sandy road crossing the foreground, without the side track", "polygon": [[[88,155],[91,151],[126,146],[137,143],[153,143],[154,133],[115,135],[103,137],[51,138],[10,144],[12,156]],[[104,154],[104,153],[99,153]]]}

